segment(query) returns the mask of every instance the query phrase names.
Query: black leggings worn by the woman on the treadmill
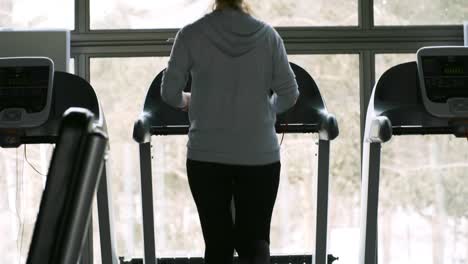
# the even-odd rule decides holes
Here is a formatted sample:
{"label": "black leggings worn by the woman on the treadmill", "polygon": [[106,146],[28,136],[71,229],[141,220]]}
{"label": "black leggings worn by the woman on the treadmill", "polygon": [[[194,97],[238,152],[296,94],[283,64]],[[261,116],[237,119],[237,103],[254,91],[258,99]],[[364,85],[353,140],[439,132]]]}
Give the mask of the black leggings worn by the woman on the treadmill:
{"label": "black leggings worn by the woman on the treadmill", "polygon": [[270,263],[270,222],[280,169],[280,162],[240,166],[187,160],[205,239],[205,264],[231,264],[234,249],[241,263]]}

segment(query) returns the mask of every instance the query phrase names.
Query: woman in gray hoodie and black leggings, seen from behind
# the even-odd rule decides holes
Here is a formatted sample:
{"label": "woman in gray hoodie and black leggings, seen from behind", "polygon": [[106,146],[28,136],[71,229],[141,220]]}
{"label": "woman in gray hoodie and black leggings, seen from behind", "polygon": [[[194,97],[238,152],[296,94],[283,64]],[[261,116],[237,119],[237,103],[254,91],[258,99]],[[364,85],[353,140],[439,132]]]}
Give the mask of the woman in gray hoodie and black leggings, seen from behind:
{"label": "woman in gray hoodie and black leggings, seen from behind", "polygon": [[234,249],[242,264],[270,263],[281,168],[276,114],[299,96],[281,37],[243,0],[216,0],[213,12],[178,32],[161,95],[189,113],[187,174],[205,263],[230,264]]}

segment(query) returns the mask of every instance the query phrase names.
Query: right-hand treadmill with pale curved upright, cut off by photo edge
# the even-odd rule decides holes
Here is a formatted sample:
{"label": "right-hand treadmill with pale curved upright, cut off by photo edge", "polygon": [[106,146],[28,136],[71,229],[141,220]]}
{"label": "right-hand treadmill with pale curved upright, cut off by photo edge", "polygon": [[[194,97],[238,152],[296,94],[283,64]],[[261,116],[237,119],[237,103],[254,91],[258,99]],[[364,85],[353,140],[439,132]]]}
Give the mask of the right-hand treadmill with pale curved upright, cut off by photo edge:
{"label": "right-hand treadmill with pale curved upright, cut off by photo edge", "polygon": [[393,136],[468,138],[468,47],[426,47],[386,71],[369,102],[363,146],[360,264],[378,263],[382,144]]}

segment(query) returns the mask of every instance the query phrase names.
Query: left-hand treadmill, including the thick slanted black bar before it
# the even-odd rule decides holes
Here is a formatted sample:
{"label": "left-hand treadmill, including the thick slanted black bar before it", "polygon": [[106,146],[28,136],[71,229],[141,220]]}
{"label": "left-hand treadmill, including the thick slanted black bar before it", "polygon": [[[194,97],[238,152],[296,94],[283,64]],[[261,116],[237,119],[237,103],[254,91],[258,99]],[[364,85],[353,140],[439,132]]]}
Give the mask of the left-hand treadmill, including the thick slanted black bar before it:
{"label": "left-hand treadmill, including the thick slanted black bar before it", "polygon": [[98,184],[103,260],[117,263],[109,261],[107,141],[104,115],[88,82],[54,71],[49,58],[0,58],[0,147],[56,144],[28,264],[77,263]]}

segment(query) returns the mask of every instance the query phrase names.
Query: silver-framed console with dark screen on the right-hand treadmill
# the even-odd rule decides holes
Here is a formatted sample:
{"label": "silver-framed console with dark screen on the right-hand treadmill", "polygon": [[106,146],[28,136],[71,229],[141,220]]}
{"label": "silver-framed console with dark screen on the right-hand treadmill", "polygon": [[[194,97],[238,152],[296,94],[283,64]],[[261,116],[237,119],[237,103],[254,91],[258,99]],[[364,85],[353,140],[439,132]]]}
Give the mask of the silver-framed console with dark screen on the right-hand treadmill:
{"label": "silver-framed console with dark screen on the right-hand treadmill", "polygon": [[468,118],[468,47],[427,47],[417,53],[426,110],[434,116]]}

